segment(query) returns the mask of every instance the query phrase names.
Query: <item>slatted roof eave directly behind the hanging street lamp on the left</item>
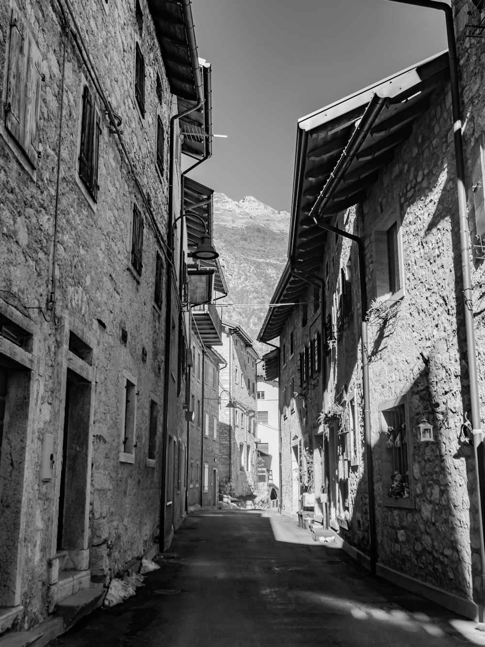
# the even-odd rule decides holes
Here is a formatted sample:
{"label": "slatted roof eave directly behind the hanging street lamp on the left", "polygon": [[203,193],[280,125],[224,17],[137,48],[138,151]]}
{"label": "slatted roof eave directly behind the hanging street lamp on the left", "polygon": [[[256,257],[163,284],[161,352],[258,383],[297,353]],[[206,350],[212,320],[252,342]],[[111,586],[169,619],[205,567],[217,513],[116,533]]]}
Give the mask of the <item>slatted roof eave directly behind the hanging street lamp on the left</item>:
{"label": "slatted roof eave directly behind the hanging street lamp on the left", "polygon": [[[196,182],[187,176],[184,177],[184,213],[186,214],[189,252],[193,252],[202,243],[204,226],[199,218],[204,221],[211,245],[213,245],[213,193],[213,189],[204,186],[204,184],[200,184],[200,182]],[[219,259],[200,260],[199,265],[201,269],[214,270],[215,291],[227,294],[226,279]]]}

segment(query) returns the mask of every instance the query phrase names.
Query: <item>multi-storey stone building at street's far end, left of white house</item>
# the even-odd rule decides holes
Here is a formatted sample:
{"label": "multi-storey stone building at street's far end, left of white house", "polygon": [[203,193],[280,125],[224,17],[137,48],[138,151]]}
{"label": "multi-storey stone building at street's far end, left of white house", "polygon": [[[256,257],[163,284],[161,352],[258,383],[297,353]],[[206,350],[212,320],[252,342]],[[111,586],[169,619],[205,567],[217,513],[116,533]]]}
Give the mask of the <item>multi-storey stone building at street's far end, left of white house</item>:
{"label": "multi-storey stone building at street's far end, left of white house", "polygon": [[239,496],[250,494],[257,480],[256,378],[261,358],[240,326],[223,321],[222,332],[221,355],[227,367],[220,377],[219,483],[224,484],[220,489]]}

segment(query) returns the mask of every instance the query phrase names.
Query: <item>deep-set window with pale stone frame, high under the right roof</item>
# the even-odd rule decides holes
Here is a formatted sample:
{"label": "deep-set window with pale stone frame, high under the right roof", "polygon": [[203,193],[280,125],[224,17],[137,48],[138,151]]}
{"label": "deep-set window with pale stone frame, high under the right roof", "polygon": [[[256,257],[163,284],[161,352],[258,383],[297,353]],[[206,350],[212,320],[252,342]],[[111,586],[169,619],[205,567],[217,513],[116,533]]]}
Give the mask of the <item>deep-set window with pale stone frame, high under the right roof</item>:
{"label": "deep-set window with pale stone frame, high under the right roof", "polygon": [[398,206],[384,212],[372,232],[374,294],[380,300],[404,296],[404,265]]}

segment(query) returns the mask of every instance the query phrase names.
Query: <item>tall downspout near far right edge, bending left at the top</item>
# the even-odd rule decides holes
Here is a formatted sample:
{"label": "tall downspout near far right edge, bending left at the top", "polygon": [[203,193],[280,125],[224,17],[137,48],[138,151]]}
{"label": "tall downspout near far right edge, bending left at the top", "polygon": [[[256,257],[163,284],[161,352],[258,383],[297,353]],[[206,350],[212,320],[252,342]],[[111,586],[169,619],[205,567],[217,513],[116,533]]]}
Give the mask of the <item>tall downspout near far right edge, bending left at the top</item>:
{"label": "tall downspout near far right edge, bending left at the top", "polygon": [[466,347],[468,356],[468,378],[470,383],[471,423],[473,427],[473,452],[475,455],[475,474],[477,477],[477,513],[480,534],[480,567],[482,583],[482,604],[479,606],[479,622],[485,622],[485,543],[483,536],[482,499],[478,448],[482,443],[482,422],[480,419],[479,380],[477,374],[477,347],[475,344],[475,325],[473,322],[473,294],[469,256],[468,215],[466,210],[465,163],[463,154],[462,121],[460,109],[460,85],[458,80],[457,44],[451,6],[433,0],[393,0],[403,5],[416,5],[444,11],[446,17],[446,36],[449,52],[449,81],[451,85],[451,105],[453,109],[453,133],[455,139],[455,164],[457,167],[458,221],[460,228],[460,247],[462,256],[463,300],[465,311]]}

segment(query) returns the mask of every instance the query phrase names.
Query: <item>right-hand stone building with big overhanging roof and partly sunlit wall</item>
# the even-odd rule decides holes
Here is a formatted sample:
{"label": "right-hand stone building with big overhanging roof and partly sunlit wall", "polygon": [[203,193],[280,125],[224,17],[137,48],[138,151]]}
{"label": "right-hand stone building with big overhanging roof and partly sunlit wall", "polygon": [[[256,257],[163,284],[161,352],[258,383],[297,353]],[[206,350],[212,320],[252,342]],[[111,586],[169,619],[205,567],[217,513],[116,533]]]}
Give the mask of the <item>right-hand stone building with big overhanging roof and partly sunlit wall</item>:
{"label": "right-hand stone building with big overhanging roof and partly sunlit wall", "polygon": [[[288,263],[272,298],[282,305],[259,340],[279,337],[265,360],[278,357],[266,377],[279,374],[285,510],[313,485],[316,517],[371,571],[478,617],[462,254],[479,296],[482,104],[477,53],[461,44],[462,96],[476,111],[464,128],[469,250],[445,52],[299,120]],[[482,373],[479,361],[480,399]]]}

